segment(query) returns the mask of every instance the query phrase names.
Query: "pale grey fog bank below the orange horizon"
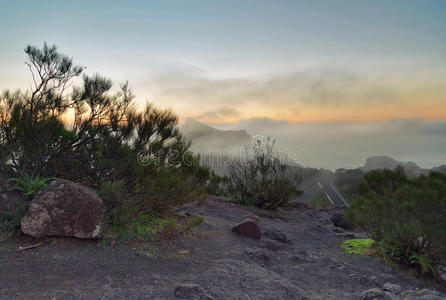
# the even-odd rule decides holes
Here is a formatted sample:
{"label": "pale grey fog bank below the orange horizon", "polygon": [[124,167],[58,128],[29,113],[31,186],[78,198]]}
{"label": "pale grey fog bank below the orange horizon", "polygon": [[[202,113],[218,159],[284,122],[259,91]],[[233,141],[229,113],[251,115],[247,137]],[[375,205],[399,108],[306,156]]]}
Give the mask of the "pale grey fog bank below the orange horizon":
{"label": "pale grey fog bank below the orange horizon", "polygon": [[298,151],[303,166],[356,168],[370,156],[387,155],[420,167],[446,164],[446,121],[396,119],[369,123],[291,123],[252,118],[219,129],[246,129],[251,136],[270,136],[276,148]]}

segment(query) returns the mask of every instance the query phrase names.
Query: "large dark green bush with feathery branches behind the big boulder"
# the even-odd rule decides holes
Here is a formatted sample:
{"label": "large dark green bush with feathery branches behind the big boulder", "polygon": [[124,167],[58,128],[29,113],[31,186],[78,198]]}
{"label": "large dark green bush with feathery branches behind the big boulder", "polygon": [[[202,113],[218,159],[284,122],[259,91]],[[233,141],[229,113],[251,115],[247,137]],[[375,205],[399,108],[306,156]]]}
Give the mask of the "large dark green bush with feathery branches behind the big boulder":
{"label": "large dark green bush with feathery branches behind the big boulder", "polygon": [[[55,46],[25,53],[33,88],[0,95],[0,173],[26,173],[33,184],[38,178],[30,193],[44,184],[38,176],[88,185],[104,197],[113,222],[204,200],[210,172],[189,153],[172,111],[140,110],[128,83],[112,93],[99,75],[84,74],[70,88],[84,68]],[[123,207],[126,219],[114,218]]]}

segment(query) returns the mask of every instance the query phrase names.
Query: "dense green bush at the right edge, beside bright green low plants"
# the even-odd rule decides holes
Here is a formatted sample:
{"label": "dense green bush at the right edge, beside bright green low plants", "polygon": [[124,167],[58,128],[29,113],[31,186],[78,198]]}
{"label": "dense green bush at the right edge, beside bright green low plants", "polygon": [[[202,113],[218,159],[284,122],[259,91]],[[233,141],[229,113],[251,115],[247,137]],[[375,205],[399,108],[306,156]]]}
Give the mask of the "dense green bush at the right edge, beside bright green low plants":
{"label": "dense green bush at the right edge, beside bright green low plants", "polygon": [[446,176],[408,178],[402,168],[372,171],[358,187],[347,220],[366,229],[382,251],[422,273],[446,259]]}

